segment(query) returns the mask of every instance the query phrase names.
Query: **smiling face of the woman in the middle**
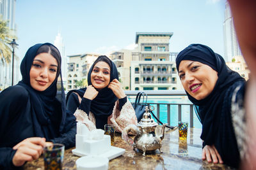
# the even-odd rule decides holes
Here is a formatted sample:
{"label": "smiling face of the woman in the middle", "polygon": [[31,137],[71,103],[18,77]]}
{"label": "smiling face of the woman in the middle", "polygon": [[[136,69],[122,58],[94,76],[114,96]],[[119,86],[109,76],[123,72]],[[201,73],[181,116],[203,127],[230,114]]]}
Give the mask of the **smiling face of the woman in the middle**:
{"label": "smiling face of the woman in the middle", "polygon": [[110,81],[110,67],[104,61],[99,61],[92,69],[91,81],[96,89],[104,89]]}

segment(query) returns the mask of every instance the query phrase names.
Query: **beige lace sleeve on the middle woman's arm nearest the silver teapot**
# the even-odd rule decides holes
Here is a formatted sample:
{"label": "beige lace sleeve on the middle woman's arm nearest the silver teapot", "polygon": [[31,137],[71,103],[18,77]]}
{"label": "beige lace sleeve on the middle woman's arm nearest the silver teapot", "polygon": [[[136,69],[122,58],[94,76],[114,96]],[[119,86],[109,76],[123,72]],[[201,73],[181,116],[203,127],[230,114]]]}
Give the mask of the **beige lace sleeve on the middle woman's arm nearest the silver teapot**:
{"label": "beige lace sleeve on the middle woman's arm nearest the silver teapot", "polygon": [[122,132],[122,130],[130,124],[137,125],[138,120],[130,101],[127,100],[121,111],[116,108],[117,105],[118,101],[116,101],[116,104],[113,108],[113,114],[111,115],[112,117],[110,118],[117,131]]}

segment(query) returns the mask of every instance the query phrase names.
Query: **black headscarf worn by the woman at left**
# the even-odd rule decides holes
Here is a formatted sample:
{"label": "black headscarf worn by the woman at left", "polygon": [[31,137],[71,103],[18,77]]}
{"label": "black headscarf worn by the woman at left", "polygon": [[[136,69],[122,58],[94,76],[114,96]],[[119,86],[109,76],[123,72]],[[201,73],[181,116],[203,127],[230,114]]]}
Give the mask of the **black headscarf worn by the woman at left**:
{"label": "black headscarf worn by the woman at left", "polygon": [[[53,46],[51,43],[36,44],[31,46],[26,52],[24,59],[20,64],[20,72],[22,74],[22,80],[17,85],[24,87],[29,92],[29,100],[31,103],[31,115],[33,118],[33,127],[35,135],[38,137],[45,137],[46,139],[53,139],[60,135],[60,132],[64,128],[66,119],[66,106],[65,106],[65,92],[63,89],[63,83],[61,78],[61,103],[56,99],[57,92],[57,80],[58,76],[61,75],[61,71],[56,74],[55,80],[52,84],[44,91],[40,92],[30,85],[30,69],[33,64],[33,60],[36,57],[36,52],[43,46]],[[58,52],[58,49],[56,48]],[[60,56],[60,52],[58,52]],[[57,59],[56,59],[57,60]],[[61,67],[61,57],[57,60],[58,70]],[[57,124],[57,125],[56,125]],[[59,127],[58,131],[56,128]]]}

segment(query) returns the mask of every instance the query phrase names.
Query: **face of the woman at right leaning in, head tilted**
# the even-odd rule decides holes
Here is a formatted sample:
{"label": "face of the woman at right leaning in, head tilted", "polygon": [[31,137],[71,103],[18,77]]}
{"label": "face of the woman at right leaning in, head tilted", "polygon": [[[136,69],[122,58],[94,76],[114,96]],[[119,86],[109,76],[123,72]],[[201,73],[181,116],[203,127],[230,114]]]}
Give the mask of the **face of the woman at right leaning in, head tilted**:
{"label": "face of the woman at right leaning in, head tilted", "polygon": [[179,77],[186,92],[196,100],[202,100],[214,89],[218,72],[202,62],[182,60]]}

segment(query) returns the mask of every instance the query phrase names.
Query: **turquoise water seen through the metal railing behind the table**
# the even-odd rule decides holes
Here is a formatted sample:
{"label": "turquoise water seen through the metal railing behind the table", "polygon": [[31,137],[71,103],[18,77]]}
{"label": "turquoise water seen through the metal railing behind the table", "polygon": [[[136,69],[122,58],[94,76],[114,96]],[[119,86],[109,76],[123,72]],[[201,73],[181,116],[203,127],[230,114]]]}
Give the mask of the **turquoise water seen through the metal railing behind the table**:
{"label": "turquoise water seen through the metal railing behind the table", "polygon": [[[134,102],[135,99],[129,99],[129,101]],[[147,103],[191,103],[188,99],[180,99],[180,98],[172,98],[172,99],[148,99]],[[156,104],[150,104],[154,106],[155,110],[153,111],[155,115],[157,115],[157,106]],[[202,124],[196,117],[195,110],[193,111],[193,124],[195,128],[202,128]],[[163,104],[160,105],[160,113],[159,117],[161,122],[167,123],[167,105]],[[188,106],[181,106],[181,120],[183,122],[190,122],[189,120],[189,105]],[[156,121],[156,120],[155,120]],[[178,125],[178,105],[170,105],[170,125],[175,126]]]}

